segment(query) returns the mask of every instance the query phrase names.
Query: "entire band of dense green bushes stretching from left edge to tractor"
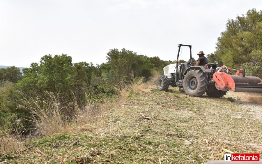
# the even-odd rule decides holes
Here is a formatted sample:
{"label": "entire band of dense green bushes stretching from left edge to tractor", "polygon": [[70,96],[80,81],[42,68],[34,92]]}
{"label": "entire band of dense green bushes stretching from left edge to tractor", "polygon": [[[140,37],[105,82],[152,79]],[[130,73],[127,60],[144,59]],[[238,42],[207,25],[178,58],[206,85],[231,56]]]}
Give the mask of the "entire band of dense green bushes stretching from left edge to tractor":
{"label": "entire band of dense green bushes stretching from left edge to tractor", "polygon": [[[42,114],[60,112],[61,119],[74,119],[77,109],[84,110],[87,102],[101,103],[118,97],[121,89],[132,84],[136,77],[147,80],[154,69],[162,70],[170,61],[159,57],[137,55],[129,50],[111,49],[107,63],[72,63],[68,55],[45,55],[39,63],[23,69],[23,76],[14,66],[1,69],[0,125],[12,133],[29,134],[39,127],[36,120],[45,115],[34,110],[50,110]],[[17,71],[18,70],[18,71]],[[56,107],[46,107],[50,96]],[[59,109],[57,109],[59,108]],[[56,116],[56,115],[55,115]],[[47,116],[46,116],[47,117]],[[58,120],[61,121],[58,118]]]}

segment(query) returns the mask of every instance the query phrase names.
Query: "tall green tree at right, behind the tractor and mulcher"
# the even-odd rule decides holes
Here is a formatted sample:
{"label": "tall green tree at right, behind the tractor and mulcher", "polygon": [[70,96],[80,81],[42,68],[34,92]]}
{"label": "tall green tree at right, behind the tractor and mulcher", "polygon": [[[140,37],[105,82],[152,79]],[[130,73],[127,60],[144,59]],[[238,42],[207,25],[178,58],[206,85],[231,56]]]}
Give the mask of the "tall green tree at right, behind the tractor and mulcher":
{"label": "tall green tree at right, behind the tractor and mulcher", "polygon": [[261,22],[262,11],[256,9],[247,11],[246,15],[237,15],[236,20],[228,20],[226,31],[221,33],[216,43],[215,53],[208,55],[209,60],[217,60],[219,63],[222,61],[220,64],[238,68],[244,63],[252,62],[252,54],[261,56],[257,53],[257,50],[262,50]]}

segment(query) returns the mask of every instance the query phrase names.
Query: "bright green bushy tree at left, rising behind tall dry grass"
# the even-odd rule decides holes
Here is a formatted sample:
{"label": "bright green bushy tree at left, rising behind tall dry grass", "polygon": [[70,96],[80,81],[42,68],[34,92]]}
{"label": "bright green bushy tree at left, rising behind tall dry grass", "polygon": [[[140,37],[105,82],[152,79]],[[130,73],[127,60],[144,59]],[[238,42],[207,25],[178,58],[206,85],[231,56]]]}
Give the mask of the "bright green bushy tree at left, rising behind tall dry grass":
{"label": "bright green bushy tree at left, rising behind tall dry grass", "polygon": [[32,63],[23,69],[24,78],[17,87],[29,95],[50,91],[61,94],[70,93],[72,89],[72,58],[65,54],[45,55],[40,64]]}

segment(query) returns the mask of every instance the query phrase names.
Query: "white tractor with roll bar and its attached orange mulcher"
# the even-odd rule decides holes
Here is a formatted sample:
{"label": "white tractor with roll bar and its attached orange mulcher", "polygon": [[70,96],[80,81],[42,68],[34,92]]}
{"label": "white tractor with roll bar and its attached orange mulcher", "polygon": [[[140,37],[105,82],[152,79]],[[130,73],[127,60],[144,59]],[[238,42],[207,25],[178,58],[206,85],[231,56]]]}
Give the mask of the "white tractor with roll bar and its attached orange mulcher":
{"label": "white tractor with roll bar and its attached orange mulcher", "polygon": [[[178,62],[181,46],[187,46],[190,49],[190,60],[187,63]],[[167,91],[169,86],[173,86],[189,96],[201,96],[206,93],[210,97],[222,97],[228,90],[262,93],[262,80],[259,77],[245,76],[245,69],[218,67],[216,61],[204,66],[190,64],[192,62],[191,48],[190,45],[178,44],[176,63],[164,67],[164,75],[157,79],[159,90]],[[233,74],[233,70],[236,74]]]}

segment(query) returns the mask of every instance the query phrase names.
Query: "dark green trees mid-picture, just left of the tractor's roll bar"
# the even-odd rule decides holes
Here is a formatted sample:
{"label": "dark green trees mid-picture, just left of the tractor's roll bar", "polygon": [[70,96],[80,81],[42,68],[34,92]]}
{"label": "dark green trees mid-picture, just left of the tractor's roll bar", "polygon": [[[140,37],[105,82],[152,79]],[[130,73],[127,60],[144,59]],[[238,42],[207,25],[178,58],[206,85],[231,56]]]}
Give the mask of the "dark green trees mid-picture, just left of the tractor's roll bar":
{"label": "dark green trees mid-picture, just left of the tractor's roll bar", "polygon": [[153,69],[163,71],[163,67],[170,64],[168,61],[160,60],[159,57],[147,57],[137,55],[136,52],[118,49],[111,49],[107,53],[107,64],[101,64],[102,77],[108,79],[115,86],[123,86],[131,81],[130,74],[135,77],[143,76],[148,79]]}

